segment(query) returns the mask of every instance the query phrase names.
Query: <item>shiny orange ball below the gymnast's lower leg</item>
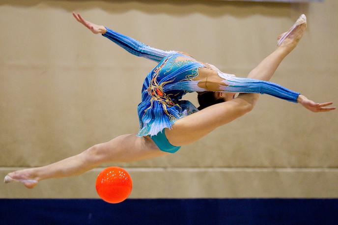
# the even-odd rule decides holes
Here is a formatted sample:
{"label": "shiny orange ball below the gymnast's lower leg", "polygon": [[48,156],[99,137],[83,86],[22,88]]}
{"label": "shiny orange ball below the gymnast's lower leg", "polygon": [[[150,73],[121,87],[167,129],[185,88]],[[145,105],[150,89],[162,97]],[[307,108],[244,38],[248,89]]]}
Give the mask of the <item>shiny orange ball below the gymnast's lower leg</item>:
{"label": "shiny orange ball below the gymnast's lower leg", "polygon": [[97,194],[109,203],[124,201],[132,188],[132,178],[126,170],[119,167],[106,168],[96,178]]}

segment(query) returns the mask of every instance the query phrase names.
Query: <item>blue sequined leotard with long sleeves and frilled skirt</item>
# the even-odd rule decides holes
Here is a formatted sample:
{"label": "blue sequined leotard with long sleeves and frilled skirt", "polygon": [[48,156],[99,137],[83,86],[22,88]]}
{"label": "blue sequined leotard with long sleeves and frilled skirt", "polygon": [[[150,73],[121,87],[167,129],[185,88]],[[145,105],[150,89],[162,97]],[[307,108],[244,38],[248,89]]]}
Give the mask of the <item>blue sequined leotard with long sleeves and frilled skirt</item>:
{"label": "blue sequined leotard with long sleeves and frilled skirt", "polygon": [[[163,51],[145,45],[131,37],[107,28],[102,34],[129,53],[156,61],[158,64],[146,76],[138,105],[140,128],[138,137],[153,136],[178,119],[197,112],[189,101],[181,100],[188,92],[206,91],[193,81],[198,76],[198,68],[206,67],[193,57],[176,51]],[[236,78],[218,71],[225,85],[222,91],[269,94],[291,102],[297,102],[300,93],[271,82],[255,79]]]}

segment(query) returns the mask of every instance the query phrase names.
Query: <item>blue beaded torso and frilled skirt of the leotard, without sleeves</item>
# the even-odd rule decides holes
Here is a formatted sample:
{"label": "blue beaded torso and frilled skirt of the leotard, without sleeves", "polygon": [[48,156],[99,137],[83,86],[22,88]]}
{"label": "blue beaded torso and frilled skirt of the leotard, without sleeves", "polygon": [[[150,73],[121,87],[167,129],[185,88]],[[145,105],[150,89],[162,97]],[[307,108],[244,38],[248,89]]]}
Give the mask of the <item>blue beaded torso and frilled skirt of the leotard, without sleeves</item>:
{"label": "blue beaded torso and frilled skirt of the leotard, without sleeves", "polygon": [[180,99],[184,94],[196,91],[198,86],[192,79],[198,76],[197,68],[201,66],[203,64],[193,58],[173,53],[148,74],[138,106],[139,137],[156,135],[164,128],[171,128],[177,119],[198,111],[191,102]]}

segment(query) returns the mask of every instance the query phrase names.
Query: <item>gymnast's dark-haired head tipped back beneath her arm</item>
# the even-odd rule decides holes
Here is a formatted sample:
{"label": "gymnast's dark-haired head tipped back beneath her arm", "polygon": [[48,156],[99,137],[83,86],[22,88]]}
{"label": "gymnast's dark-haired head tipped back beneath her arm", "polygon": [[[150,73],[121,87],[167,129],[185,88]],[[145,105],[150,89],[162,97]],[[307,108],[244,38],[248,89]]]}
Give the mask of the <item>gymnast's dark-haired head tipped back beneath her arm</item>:
{"label": "gymnast's dark-haired head tipped back beneath her arm", "polygon": [[235,97],[236,93],[229,92],[213,92],[213,91],[203,91],[198,92],[197,100],[199,103],[198,110],[202,110],[209,106],[229,101]]}

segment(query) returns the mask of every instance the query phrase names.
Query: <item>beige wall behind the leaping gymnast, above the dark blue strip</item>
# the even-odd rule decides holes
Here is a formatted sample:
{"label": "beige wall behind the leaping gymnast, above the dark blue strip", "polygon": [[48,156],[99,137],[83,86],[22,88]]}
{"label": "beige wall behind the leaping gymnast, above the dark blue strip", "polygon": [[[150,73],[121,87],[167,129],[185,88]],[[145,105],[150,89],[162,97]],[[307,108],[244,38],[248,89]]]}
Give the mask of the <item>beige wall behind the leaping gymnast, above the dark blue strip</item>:
{"label": "beige wall behind the leaping gymnast, above the dark blue strip", "polygon": [[[2,177],[137,132],[141,84],[155,63],[91,34],[72,18],[73,10],[239,76],[269,55],[277,36],[305,13],[308,29],[272,82],[338,103],[335,0],[1,1]],[[197,104],[196,94],[187,99]],[[264,95],[253,112],[174,155],[118,166],[130,171],[136,198],[338,197],[337,113],[311,113]],[[97,197],[99,170],[43,181],[34,190],[0,184],[0,197]]]}

